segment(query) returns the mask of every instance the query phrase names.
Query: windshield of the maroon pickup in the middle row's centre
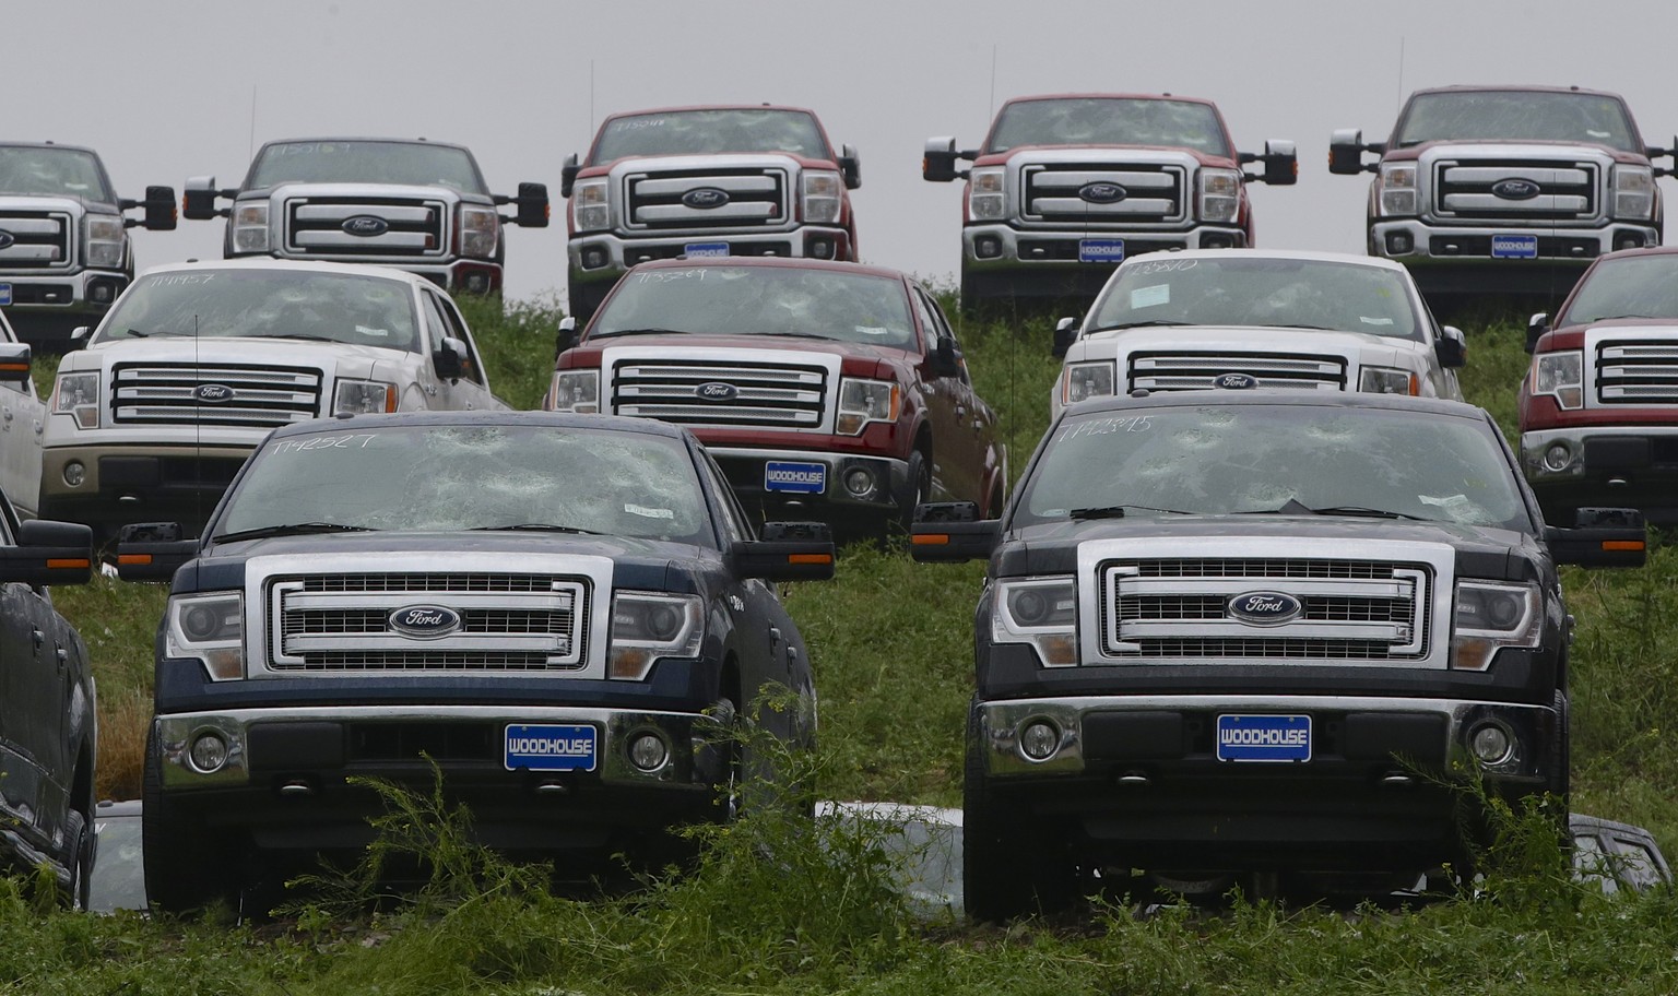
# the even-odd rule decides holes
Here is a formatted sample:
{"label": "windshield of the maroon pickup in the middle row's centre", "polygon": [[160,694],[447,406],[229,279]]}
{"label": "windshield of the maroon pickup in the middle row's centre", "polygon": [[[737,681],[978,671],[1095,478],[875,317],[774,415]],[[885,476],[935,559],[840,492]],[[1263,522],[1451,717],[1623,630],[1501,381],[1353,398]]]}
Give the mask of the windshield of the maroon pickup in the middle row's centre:
{"label": "windshield of the maroon pickup in the middle row's centre", "polygon": [[903,282],[795,267],[675,267],[623,278],[589,339],[688,332],[795,335],[913,349]]}

